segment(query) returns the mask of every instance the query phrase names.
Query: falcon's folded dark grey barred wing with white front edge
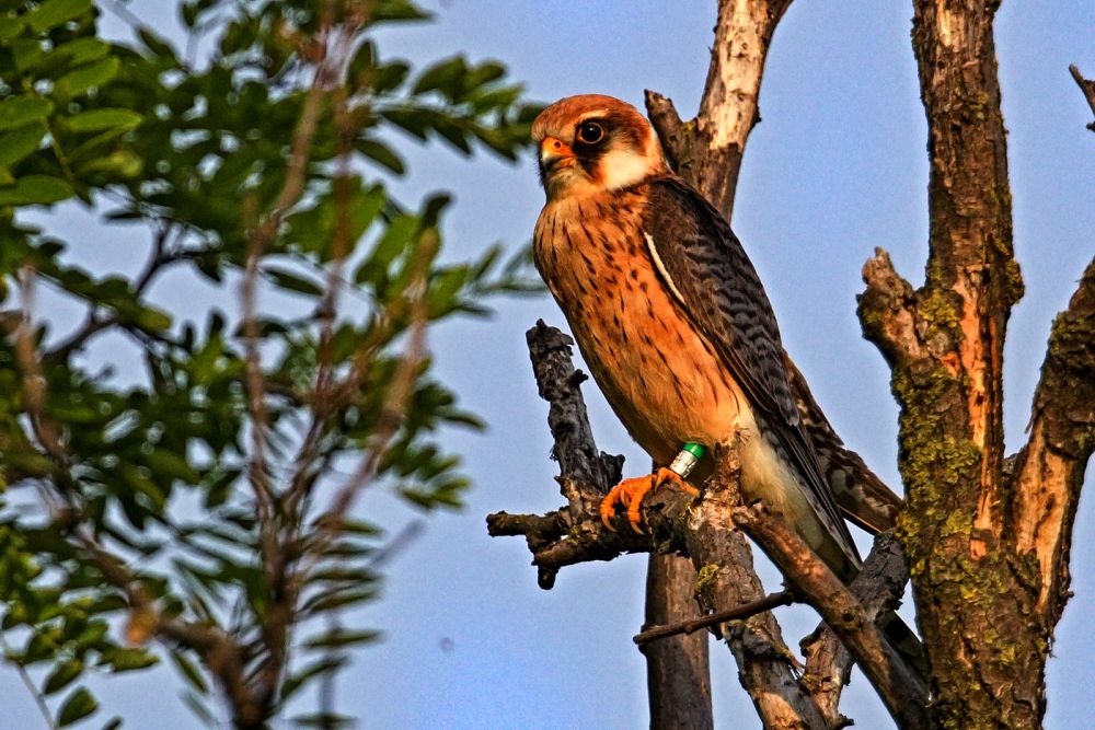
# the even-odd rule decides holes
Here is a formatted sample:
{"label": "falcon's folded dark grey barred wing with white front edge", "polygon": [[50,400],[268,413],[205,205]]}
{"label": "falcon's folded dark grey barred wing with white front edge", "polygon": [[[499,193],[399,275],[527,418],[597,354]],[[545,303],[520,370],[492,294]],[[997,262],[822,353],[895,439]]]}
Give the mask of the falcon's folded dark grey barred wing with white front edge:
{"label": "falcon's folded dark grey barred wing with white front edge", "polygon": [[775,437],[818,517],[857,565],[798,414],[772,305],[729,223],[684,181],[666,175],[650,183],[643,232],[655,268],[749,398],[762,436]]}

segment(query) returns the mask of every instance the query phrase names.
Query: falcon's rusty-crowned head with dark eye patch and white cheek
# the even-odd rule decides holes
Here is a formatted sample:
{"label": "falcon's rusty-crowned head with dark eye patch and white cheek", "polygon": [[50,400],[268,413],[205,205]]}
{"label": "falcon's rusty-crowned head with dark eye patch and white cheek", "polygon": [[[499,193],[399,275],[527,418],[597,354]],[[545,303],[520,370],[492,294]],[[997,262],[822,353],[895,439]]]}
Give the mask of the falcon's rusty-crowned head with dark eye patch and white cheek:
{"label": "falcon's rusty-crowned head with dark eye patch and white cheek", "polygon": [[555,102],[532,123],[532,139],[549,200],[620,190],[668,170],[646,117],[612,96]]}

